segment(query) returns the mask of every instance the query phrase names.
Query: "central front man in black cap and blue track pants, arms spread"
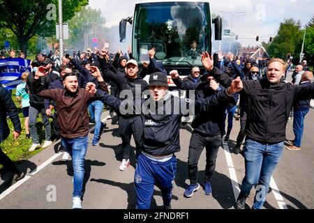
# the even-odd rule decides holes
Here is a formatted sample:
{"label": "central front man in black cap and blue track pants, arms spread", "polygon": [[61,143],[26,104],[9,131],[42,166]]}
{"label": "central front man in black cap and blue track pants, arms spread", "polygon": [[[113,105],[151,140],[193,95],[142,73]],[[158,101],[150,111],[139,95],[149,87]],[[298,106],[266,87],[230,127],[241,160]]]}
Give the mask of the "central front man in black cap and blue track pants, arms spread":
{"label": "central front man in black cap and blue track pants, arms spread", "polygon": [[[87,84],[89,91],[94,93],[93,84]],[[184,110],[192,106],[190,100],[184,100],[167,93],[167,76],[162,72],[154,72],[149,77],[149,99],[142,99],[142,103],[121,101],[112,95],[96,91],[96,96],[104,103],[119,108],[127,105],[142,105],[141,118],[143,125],[142,153],[138,156],[135,169],[135,192],[137,209],[148,209],[151,206],[151,197],[154,185],[160,188],[163,194],[163,208],[170,208],[172,198],[172,182],[177,171],[177,159],[174,153],[180,151],[179,130]],[[234,98],[228,96],[241,90],[241,83],[232,82],[226,91],[218,91],[208,98],[197,100],[195,110],[208,112],[221,103],[230,102]],[[123,106],[121,106],[123,105]],[[139,111],[139,108],[136,108]]]}

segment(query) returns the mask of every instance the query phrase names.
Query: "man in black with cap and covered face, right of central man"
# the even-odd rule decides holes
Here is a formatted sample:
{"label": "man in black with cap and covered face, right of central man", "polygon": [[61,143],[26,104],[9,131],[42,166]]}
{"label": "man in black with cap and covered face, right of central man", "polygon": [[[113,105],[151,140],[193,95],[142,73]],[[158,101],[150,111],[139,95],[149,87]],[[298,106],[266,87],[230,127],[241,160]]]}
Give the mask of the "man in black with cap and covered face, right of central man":
{"label": "man in black with cap and covered face, right of central man", "polygon": [[[204,54],[202,54],[202,61],[203,59]],[[172,70],[170,75],[174,84],[179,89],[195,90],[196,98],[202,99],[216,93],[214,89],[211,89],[211,85],[216,83],[211,78],[213,76],[209,72],[211,70],[207,70],[207,73],[201,77],[202,82],[197,83],[179,79],[179,73],[176,70]],[[222,71],[216,69],[215,72],[221,73]],[[229,86],[231,82],[232,80],[230,79],[226,83],[221,82],[220,84],[222,86]],[[209,112],[195,113],[195,118],[192,122],[194,130],[190,137],[190,146],[188,148],[188,176],[190,178],[190,185],[186,188],[184,197],[192,197],[193,193],[200,188],[200,184],[197,183],[197,164],[204,147],[206,148],[204,194],[209,195],[212,192],[210,181],[216,168],[216,157],[221,144],[221,135],[225,134],[223,118],[227,105],[228,103],[221,102],[219,106]],[[232,105],[236,105],[234,100]]]}

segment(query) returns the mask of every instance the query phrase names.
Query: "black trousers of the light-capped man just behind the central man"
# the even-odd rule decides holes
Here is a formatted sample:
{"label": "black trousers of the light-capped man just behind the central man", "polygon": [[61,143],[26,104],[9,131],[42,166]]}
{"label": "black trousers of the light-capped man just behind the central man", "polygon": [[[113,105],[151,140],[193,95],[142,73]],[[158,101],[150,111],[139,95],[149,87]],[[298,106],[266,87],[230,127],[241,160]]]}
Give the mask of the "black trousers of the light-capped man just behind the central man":
{"label": "black trousers of the light-capped man just behind the central man", "polygon": [[130,157],[130,139],[134,137],[136,146],[136,157],[140,155],[140,146],[142,145],[143,123],[141,116],[131,118],[119,117],[119,130],[122,139],[122,157],[128,160]]}

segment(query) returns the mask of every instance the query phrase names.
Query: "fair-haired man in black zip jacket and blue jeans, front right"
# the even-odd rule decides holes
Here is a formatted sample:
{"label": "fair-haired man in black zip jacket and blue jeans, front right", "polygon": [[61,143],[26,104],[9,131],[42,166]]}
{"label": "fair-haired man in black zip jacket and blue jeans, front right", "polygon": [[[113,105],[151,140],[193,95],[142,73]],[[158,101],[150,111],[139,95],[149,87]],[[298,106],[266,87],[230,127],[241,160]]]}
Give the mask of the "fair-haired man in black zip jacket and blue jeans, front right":
{"label": "fair-haired man in black zip jacket and blue jeans, front right", "polygon": [[[210,69],[212,63],[214,61],[207,55],[204,67]],[[271,59],[267,68],[267,79],[243,81],[244,88],[240,93],[248,97],[244,146],[246,175],[237,198],[238,209],[244,209],[246,197],[255,183],[258,185],[253,208],[262,208],[271,174],[283,153],[285,127],[292,105],[297,100],[314,98],[314,84],[287,84],[284,82],[284,76],[285,62],[282,59]],[[215,77],[220,81],[230,79],[224,74]]]}

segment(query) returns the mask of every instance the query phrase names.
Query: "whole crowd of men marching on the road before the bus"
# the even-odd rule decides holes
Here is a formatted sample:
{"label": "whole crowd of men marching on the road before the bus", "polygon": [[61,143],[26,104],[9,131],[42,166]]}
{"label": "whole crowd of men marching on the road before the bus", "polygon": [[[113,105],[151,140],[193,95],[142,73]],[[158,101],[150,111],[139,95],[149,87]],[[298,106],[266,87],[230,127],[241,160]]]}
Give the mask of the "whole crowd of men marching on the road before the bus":
{"label": "whole crowd of men marching on the road before the bus", "polygon": [[[204,52],[201,55],[204,74],[200,74],[200,68],[193,67],[190,75],[181,79],[177,70],[167,73],[163,64],[156,61],[155,54],[154,48],[149,50],[149,63],[144,63],[142,70],[130,51],[124,55],[119,50],[114,59],[110,59],[106,49],[95,52],[88,49],[81,54],[66,54],[62,59],[57,51],[48,56],[37,54],[31,63],[32,72],[22,74],[22,84],[17,86],[16,94],[25,117],[26,137],[33,141],[29,151],[52,144],[50,118],[53,118],[54,132],[61,138],[61,147],[65,150],[62,160],[68,160],[69,155],[72,157],[73,208],[82,208],[89,123],[95,123],[91,144],[96,146],[105,128],[100,117],[104,105],[108,105],[110,115],[115,112],[119,117],[123,151],[121,171],[130,165],[132,135],[135,141],[137,208],[150,208],[154,185],[163,194],[164,208],[171,208],[172,181],[177,173],[175,153],[180,151],[181,117],[193,107],[193,133],[188,149],[190,185],[184,197],[192,197],[200,188],[197,164],[204,148],[207,158],[202,187],[204,194],[209,195],[219,147],[222,139],[226,142],[230,139],[234,114],[238,110],[241,130],[234,153],[244,156],[246,172],[236,207],[244,208],[251,188],[257,185],[259,196],[255,197],[253,208],[262,208],[271,174],[283,153],[284,141],[291,144],[286,147],[289,150],[301,149],[304,116],[309,111],[311,98],[314,98],[313,73],[302,72],[308,70],[306,64],[298,65],[293,83],[287,83],[287,64],[281,59],[257,61],[237,58],[231,52],[214,59]],[[149,83],[143,79],[147,75]],[[172,77],[178,89],[193,90],[195,95],[188,94],[190,100],[171,95],[167,75]],[[15,138],[20,135],[21,127],[10,94],[2,86],[0,90],[3,94],[0,140],[3,141],[8,137],[6,114],[13,121]],[[143,109],[141,105],[147,107]],[[285,126],[292,107],[295,139],[287,140]],[[41,114],[45,127],[43,145],[40,145],[36,128],[38,114]],[[9,183],[12,185],[24,175],[1,150],[0,155],[1,164],[12,173]]]}

